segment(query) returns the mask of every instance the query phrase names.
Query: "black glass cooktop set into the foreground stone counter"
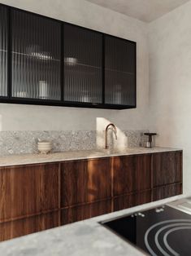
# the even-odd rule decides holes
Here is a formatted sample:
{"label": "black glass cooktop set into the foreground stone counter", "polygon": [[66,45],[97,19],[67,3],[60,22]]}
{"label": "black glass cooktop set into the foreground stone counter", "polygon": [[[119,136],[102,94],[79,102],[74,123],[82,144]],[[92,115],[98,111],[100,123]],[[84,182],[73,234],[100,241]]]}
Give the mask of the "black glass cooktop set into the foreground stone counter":
{"label": "black glass cooktop set into the foreground stone counter", "polygon": [[102,223],[153,256],[191,255],[191,215],[167,205]]}

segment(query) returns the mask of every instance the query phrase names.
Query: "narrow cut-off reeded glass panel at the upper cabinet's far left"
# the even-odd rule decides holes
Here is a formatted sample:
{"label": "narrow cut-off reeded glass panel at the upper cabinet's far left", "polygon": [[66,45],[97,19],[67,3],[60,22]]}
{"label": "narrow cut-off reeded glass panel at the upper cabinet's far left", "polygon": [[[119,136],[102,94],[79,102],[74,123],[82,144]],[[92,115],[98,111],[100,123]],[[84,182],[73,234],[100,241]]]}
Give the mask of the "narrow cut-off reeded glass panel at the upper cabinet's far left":
{"label": "narrow cut-off reeded glass panel at the upper cabinet's far left", "polygon": [[7,8],[0,6],[0,96],[7,96]]}

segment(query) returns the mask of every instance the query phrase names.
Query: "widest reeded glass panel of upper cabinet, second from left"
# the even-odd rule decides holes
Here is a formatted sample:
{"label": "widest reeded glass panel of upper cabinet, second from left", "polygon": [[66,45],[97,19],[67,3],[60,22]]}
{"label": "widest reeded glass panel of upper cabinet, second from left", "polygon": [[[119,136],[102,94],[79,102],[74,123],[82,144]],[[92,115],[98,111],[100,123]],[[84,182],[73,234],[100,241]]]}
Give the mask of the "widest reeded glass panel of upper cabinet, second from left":
{"label": "widest reeded glass panel of upper cabinet, second from left", "polygon": [[61,99],[59,22],[12,11],[11,26],[12,96]]}

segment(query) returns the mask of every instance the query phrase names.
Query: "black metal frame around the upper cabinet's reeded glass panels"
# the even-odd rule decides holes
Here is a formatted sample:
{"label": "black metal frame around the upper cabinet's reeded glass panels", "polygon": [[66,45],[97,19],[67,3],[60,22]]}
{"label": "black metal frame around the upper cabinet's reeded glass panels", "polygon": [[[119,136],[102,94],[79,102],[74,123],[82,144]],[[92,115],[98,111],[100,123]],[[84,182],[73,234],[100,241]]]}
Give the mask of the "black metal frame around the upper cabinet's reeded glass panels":
{"label": "black metal frame around the upper cabinet's reeded glass panels", "polygon": [[[102,33],[93,29],[88,29],[76,24],[70,24],[68,22],[62,20],[56,20],[54,18],[47,17],[45,15],[40,15],[37,13],[33,13],[31,11],[25,11],[20,8],[7,6],[5,4],[0,3],[0,6],[7,7],[7,17],[8,17],[8,32],[7,32],[7,40],[8,40],[8,49],[7,49],[7,96],[0,96],[0,103],[7,104],[33,104],[33,105],[48,105],[48,106],[60,106],[60,107],[76,107],[76,108],[106,108],[106,109],[127,109],[127,108],[137,108],[137,43],[128,39],[119,38],[112,36],[111,34]],[[31,99],[31,98],[19,98],[11,96],[11,10],[15,11],[23,11],[24,13],[30,13],[33,15],[37,15],[40,17],[44,17],[49,20],[57,21],[61,24],[61,61],[60,61],[60,86],[61,86],[61,99],[53,100],[53,99]],[[82,29],[87,29],[89,31],[93,31],[96,33],[102,34],[102,104],[95,103],[83,103],[83,102],[72,102],[72,101],[64,101],[64,24],[70,24],[75,27],[79,27]],[[135,44],[135,105],[119,105],[119,104],[105,104],[105,36],[111,36],[113,38],[119,38],[120,40],[124,40],[125,42],[132,42]]]}

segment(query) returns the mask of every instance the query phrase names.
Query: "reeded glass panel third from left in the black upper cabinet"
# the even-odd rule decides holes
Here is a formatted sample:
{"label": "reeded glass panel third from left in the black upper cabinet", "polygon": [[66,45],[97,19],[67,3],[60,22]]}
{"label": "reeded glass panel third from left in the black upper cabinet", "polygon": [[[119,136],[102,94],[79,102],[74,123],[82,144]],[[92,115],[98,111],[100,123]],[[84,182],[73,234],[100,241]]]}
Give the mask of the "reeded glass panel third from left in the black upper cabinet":
{"label": "reeded glass panel third from left in the black upper cabinet", "polygon": [[102,103],[102,34],[64,25],[64,100]]}

